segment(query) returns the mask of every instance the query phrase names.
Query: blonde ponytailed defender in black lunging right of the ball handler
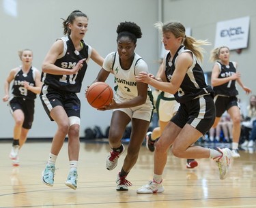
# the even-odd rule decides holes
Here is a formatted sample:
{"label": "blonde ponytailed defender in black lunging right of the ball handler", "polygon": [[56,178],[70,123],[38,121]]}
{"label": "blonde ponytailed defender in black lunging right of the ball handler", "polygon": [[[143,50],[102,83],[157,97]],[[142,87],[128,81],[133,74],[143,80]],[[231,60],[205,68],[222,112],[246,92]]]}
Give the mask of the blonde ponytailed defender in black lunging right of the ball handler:
{"label": "blonde ponytailed defender in black lunging right of the ball handler", "polygon": [[180,103],[177,114],[165,127],[156,143],[154,152],[154,177],[137,190],[138,194],[152,194],[164,191],[162,173],[165,169],[169,148],[178,158],[212,158],[216,160],[219,177],[225,179],[229,173],[231,151],[228,148],[212,150],[193,145],[214,123],[215,106],[213,90],[205,83],[204,73],[197,60],[202,60],[203,40],[186,37],[185,28],[180,22],[158,22],[162,31],[162,42],[169,52],[164,58],[160,75],[141,72],[137,81],[145,82],[159,90],[174,94]]}

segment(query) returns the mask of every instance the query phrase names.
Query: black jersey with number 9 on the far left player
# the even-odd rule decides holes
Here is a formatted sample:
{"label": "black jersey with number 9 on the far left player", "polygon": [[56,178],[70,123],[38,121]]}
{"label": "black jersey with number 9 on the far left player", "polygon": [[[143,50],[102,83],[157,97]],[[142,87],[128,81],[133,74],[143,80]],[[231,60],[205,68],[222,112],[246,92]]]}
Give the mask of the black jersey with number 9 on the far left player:
{"label": "black jersey with number 9 on the far left player", "polygon": [[35,86],[35,67],[31,67],[28,73],[23,73],[21,67],[14,75],[14,82],[12,84],[12,94],[14,97],[21,97],[23,99],[34,100],[36,94],[24,87],[24,82],[29,82],[29,85]]}

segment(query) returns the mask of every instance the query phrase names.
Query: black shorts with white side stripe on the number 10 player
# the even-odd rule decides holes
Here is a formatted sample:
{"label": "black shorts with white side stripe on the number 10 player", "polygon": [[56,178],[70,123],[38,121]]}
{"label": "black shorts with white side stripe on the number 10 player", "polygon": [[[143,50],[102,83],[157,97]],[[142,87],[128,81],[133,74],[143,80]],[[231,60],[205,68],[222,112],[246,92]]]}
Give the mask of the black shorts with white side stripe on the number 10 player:
{"label": "black shorts with white side stripe on the number 10 player", "polygon": [[50,111],[53,107],[58,105],[62,106],[65,109],[68,117],[76,116],[80,118],[80,107],[81,101],[74,92],[67,92],[63,90],[56,90],[50,86],[42,86],[42,91],[40,93],[40,99],[44,106],[44,110],[48,117],[53,121],[53,118],[50,116]]}

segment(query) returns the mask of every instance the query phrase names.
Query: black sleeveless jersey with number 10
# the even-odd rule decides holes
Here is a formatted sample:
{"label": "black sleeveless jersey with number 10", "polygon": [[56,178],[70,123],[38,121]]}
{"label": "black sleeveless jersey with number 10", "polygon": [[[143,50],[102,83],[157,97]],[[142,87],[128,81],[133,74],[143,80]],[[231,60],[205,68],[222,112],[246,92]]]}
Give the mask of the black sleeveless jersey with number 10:
{"label": "black sleeveless jersey with number 10", "polygon": [[[54,64],[57,67],[61,67],[63,69],[72,69],[76,66],[79,60],[88,58],[88,46],[83,40],[81,40],[83,48],[80,52],[75,50],[74,44],[69,36],[61,37],[61,40],[64,44],[64,54],[62,57],[55,61]],[[42,73],[41,80],[44,82],[44,84],[57,90],[64,90],[67,92],[80,92],[86,69],[87,62],[85,61],[85,63],[83,63],[83,67],[75,74],[53,75],[50,73]]]}

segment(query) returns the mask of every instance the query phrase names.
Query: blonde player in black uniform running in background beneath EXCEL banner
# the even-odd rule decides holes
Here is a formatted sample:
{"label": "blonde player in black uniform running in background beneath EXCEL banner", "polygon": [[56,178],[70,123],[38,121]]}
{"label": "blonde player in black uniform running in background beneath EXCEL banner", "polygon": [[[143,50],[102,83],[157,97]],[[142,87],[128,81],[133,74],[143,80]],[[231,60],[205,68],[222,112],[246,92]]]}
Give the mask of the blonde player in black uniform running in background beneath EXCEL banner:
{"label": "blonde player in black uniform running in background beneath EXCEL banner", "polygon": [[218,125],[221,116],[225,111],[230,115],[233,122],[233,142],[231,154],[234,158],[239,158],[238,144],[241,133],[241,113],[238,105],[238,90],[236,89],[236,81],[246,92],[251,92],[251,89],[242,84],[240,72],[236,71],[237,63],[229,61],[229,48],[222,46],[215,48],[211,52],[210,60],[212,62],[218,60],[212,69],[212,86],[215,92],[216,119],[213,128]]}

